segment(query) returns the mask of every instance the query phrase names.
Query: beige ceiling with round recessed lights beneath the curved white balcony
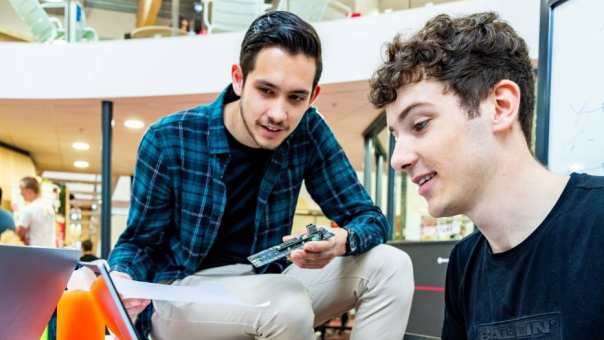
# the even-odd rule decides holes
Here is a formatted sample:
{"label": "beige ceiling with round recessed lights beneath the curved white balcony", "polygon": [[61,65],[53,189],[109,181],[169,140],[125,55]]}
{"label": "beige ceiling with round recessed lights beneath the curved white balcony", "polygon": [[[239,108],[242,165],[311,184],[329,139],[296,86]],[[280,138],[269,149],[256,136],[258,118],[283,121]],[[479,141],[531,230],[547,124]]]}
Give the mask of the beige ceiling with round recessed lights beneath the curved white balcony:
{"label": "beige ceiling with round recessed lights beneath the curved white balcony", "polygon": [[[362,132],[378,115],[367,100],[368,89],[366,81],[324,85],[316,102],[357,170],[363,164]],[[132,174],[136,149],[145,130],[126,129],[126,119],[142,119],[148,126],[161,116],[210,102],[214,97],[196,94],[113,100],[113,175]],[[28,151],[40,173],[99,173],[100,99],[0,100],[0,141]],[[75,141],[89,143],[90,150],[74,150],[71,145]],[[86,160],[90,167],[78,170],[73,166],[76,160]]]}

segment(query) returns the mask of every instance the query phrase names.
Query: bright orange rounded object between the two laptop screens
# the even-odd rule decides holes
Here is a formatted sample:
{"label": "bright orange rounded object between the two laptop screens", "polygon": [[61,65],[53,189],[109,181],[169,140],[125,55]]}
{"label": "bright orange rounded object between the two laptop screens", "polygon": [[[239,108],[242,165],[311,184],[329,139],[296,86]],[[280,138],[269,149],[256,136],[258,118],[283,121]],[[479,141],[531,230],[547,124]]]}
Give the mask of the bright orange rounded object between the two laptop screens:
{"label": "bright orange rounded object between the two laptop screens", "polygon": [[57,340],[103,340],[105,322],[92,294],[66,291],[57,306]]}

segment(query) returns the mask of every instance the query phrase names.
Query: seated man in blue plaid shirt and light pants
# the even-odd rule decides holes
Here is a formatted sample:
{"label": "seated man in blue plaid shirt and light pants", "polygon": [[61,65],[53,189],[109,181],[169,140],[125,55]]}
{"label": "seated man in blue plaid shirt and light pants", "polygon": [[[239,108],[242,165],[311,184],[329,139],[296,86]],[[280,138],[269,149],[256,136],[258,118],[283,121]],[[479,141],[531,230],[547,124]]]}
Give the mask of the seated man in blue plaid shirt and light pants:
{"label": "seated man in blue plaid shirt and light pants", "polygon": [[[229,85],[209,105],[165,117],[141,141],[128,227],[110,257],[135,280],[215,282],[266,308],[126,300],[154,339],[314,339],[313,327],[356,308],[352,339],[403,337],[413,271],[381,245],[388,224],[310,105],[321,46],[296,15],[271,12],[245,34]],[[246,258],[291,233],[302,181],[334,237],[254,270]]]}

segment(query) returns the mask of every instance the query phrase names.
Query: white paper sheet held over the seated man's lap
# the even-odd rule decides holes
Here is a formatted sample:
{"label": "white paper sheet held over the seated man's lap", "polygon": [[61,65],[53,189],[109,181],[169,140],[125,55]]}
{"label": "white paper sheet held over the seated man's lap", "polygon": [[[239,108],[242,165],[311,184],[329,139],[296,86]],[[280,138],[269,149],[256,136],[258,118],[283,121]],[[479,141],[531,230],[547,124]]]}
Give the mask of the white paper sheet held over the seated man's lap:
{"label": "white paper sheet held over the seated man's lap", "polygon": [[197,302],[202,304],[237,305],[267,307],[270,301],[258,305],[242,302],[222,286],[215,283],[203,283],[194,287],[173,286],[112,277],[117,291],[126,299],[148,299],[179,302]]}

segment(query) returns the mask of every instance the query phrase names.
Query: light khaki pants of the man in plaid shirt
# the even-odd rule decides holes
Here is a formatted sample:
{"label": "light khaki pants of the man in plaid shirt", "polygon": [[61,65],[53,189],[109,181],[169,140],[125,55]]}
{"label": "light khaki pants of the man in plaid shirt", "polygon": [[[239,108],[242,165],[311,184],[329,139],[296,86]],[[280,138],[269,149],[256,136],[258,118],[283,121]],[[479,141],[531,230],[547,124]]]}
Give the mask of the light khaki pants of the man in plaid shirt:
{"label": "light khaki pants of the man in plaid shirt", "polygon": [[413,296],[409,256],[387,245],[337,257],[323,269],[290,265],[282,274],[255,275],[251,266],[211,268],[176,285],[214,282],[243,302],[268,307],[154,301],[158,340],[314,340],[314,326],[356,308],[352,340],[401,340]]}

